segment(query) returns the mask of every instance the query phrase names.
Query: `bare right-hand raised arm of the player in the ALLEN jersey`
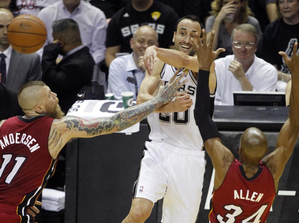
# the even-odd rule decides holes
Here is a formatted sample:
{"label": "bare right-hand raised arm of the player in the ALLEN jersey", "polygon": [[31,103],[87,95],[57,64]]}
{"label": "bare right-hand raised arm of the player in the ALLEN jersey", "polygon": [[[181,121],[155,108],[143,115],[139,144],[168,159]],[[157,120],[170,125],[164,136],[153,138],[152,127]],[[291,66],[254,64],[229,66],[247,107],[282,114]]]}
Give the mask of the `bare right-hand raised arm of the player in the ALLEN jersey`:
{"label": "bare right-hand raised arm of the player in the ALLEN jersey", "polygon": [[282,51],[279,52],[292,75],[289,117],[279,132],[275,150],[262,160],[273,175],[276,190],[278,180],[293,152],[299,134],[299,55],[297,55],[297,46],[298,43],[296,42],[293,47],[292,58],[288,58],[286,53]]}

